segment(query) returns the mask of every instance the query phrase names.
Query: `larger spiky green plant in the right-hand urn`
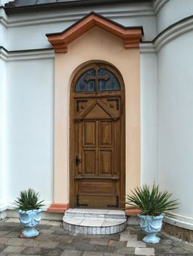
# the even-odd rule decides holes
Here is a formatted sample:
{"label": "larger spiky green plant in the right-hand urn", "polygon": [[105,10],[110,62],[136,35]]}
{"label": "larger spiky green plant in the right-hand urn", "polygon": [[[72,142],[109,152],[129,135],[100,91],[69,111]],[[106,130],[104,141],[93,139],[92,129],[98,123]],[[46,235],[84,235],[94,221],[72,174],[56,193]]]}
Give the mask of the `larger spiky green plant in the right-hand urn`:
{"label": "larger spiky green plant in the right-hand urn", "polygon": [[167,211],[178,208],[178,200],[169,200],[171,195],[168,190],[159,191],[159,185],[154,184],[152,189],[149,186],[137,187],[131,195],[127,195],[129,208],[138,208],[143,215],[158,216],[168,214]]}

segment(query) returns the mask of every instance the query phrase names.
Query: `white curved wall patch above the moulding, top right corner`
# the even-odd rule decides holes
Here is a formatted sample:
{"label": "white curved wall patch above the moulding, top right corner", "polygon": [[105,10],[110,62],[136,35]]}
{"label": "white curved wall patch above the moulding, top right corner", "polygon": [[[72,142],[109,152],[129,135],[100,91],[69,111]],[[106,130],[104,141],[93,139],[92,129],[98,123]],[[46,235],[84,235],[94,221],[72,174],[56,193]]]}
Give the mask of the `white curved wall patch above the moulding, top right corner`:
{"label": "white curved wall patch above the moulding, top right corner", "polygon": [[157,13],[157,34],[178,20],[193,15],[192,0],[170,0]]}

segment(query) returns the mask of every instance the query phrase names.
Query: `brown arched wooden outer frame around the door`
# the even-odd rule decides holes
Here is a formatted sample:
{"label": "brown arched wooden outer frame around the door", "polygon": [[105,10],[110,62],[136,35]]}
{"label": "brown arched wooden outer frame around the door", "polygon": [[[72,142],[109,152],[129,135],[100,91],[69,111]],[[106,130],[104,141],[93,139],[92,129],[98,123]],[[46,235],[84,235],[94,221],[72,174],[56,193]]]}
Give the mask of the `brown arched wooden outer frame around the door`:
{"label": "brown arched wooden outer frame around the door", "polygon": [[[112,66],[111,64],[107,64],[106,62],[103,61],[93,61],[90,64],[85,64],[84,67],[80,68],[79,71],[76,72],[74,75],[74,78],[71,82],[71,89],[70,89],[70,141],[69,141],[69,204],[71,208],[75,207],[75,202],[74,202],[74,159],[75,159],[75,154],[74,154],[74,98],[75,94],[78,95],[79,97],[88,97],[89,94],[91,93],[75,93],[74,89],[76,86],[76,80],[79,78],[82,73],[87,71],[88,69],[91,69],[92,67],[95,67],[95,65],[100,65],[100,67],[109,69],[117,78],[119,81],[120,85],[120,97],[121,97],[121,157],[120,157],[120,208],[125,208],[125,203],[124,203],[124,197],[125,197],[125,84],[122,79],[122,75],[120,72],[117,70],[116,67]],[[105,93],[103,93],[105,95]],[[110,97],[114,97],[116,95],[116,92],[114,91],[107,91],[106,95]]]}

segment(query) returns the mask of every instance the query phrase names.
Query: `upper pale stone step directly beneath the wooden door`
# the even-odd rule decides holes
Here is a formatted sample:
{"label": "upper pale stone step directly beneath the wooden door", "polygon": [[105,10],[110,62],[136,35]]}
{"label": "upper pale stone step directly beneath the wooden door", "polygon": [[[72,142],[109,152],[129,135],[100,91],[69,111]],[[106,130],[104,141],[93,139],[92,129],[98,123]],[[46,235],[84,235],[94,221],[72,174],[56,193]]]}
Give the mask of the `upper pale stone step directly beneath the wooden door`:
{"label": "upper pale stone step directly beneath the wooden door", "polygon": [[111,218],[111,219],[125,219],[125,211],[120,210],[106,210],[106,209],[83,209],[83,208],[69,208],[65,216],[68,217],[91,217],[91,218]]}

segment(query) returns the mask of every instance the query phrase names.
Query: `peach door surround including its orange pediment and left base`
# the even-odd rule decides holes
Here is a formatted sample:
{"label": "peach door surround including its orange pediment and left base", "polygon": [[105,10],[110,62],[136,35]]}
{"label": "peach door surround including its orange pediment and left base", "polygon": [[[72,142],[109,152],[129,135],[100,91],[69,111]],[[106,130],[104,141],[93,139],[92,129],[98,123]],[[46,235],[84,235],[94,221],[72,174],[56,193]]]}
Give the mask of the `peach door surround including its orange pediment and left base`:
{"label": "peach door surround including its orange pediment and left base", "polygon": [[69,206],[71,81],[79,69],[93,61],[116,67],[125,83],[125,194],[127,194],[130,189],[140,184],[139,41],[142,37],[142,29],[119,26],[92,12],[70,29],[47,37],[55,48],[54,202],[47,211],[64,212]]}

